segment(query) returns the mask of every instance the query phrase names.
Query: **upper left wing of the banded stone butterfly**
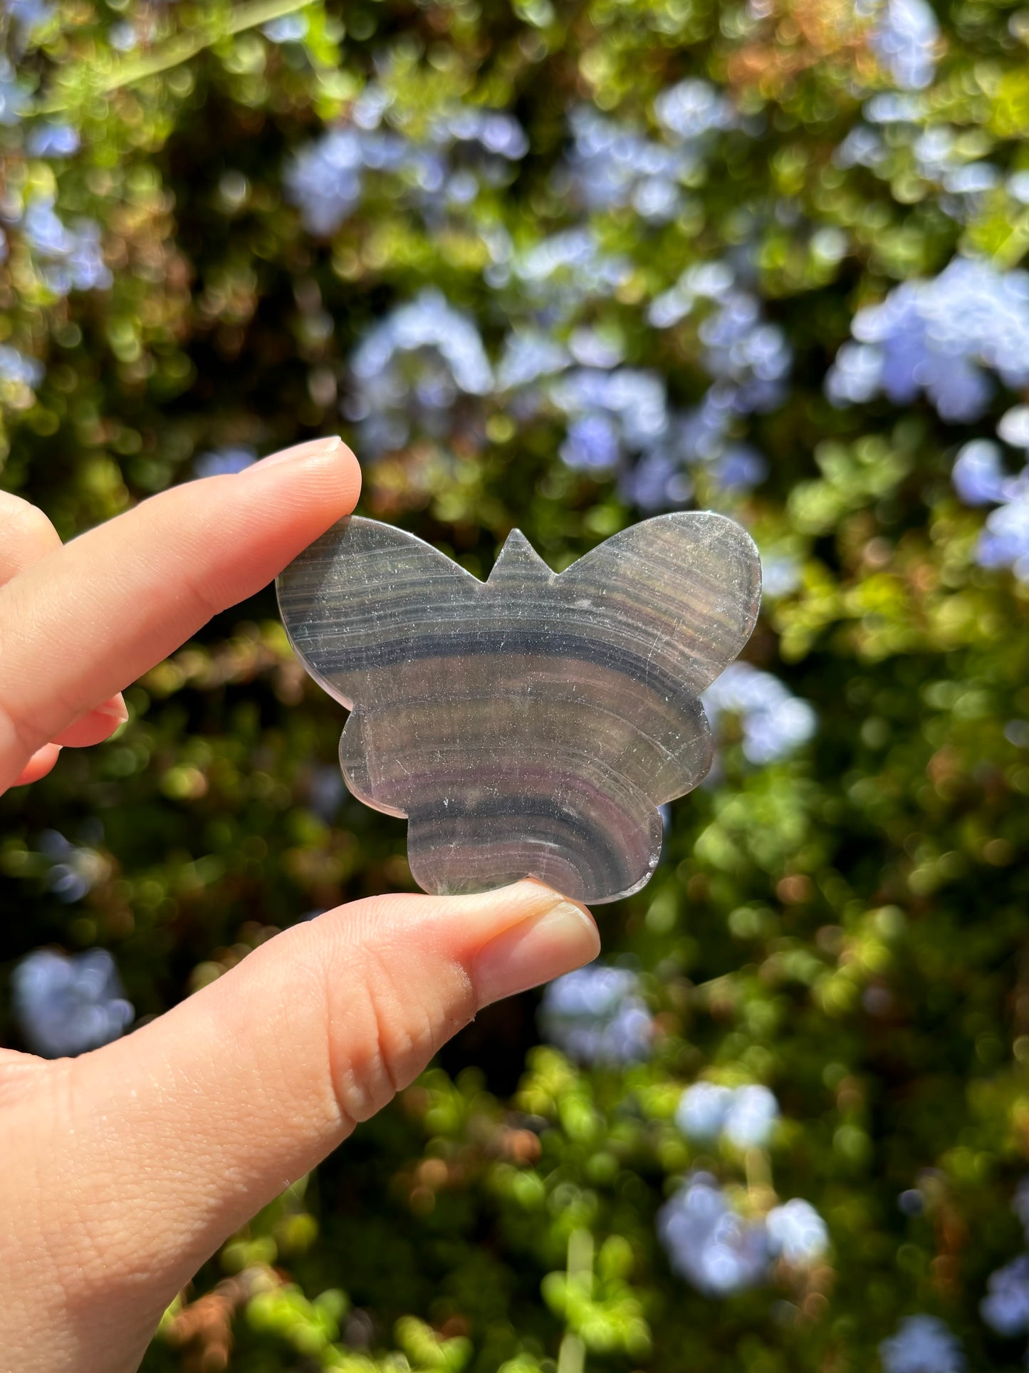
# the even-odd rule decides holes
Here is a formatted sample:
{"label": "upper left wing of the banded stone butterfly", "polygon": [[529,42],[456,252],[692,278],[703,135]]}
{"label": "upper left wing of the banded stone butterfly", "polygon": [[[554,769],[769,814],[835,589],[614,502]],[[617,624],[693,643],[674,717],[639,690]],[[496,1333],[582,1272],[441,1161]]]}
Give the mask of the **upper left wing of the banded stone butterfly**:
{"label": "upper left wing of the banded stone butterfly", "polygon": [[405,667],[445,652],[482,582],[414,534],[354,515],[295,557],[276,589],[296,655],[353,710],[383,703]]}

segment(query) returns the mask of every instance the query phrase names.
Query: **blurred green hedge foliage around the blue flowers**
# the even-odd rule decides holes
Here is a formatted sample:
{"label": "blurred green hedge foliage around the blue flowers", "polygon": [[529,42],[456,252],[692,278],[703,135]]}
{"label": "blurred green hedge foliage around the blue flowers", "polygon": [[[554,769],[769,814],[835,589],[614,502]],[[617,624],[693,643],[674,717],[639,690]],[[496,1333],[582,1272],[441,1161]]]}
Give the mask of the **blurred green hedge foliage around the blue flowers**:
{"label": "blurred green hedge foliage around the blue flowers", "polygon": [[[285,14],[302,36],[269,37]],[[938,15],[919,118],[947,121],[969,161],[1029,168],[1029,15],[982,0]],[[488,235],[525,247],[568,221],[550,176],[567,113],[641,117],[686,76],[730,92],[755,132],[697,168],[670,221],[593,213],[631,270],[586,316],[696,401],[696,327],[650,330],[643,306],[749,244],[796,358],[783,404],[753,417],[768,479],[729,503],[696,485],[799,567],[748,656],[811,702],[818,735],[759,768],[727,721],[718,778],[674,803],[650,886],[600,912],[605,956],[639,969],[652,1057],[576,1067],[536,1042],[534,997],[491,1008],[225,1245],[145,1368],[859,1373],[912,1311],[944,1317],[971,1368],[1021,1368],[978,1303],[1022,1247],[1010,1201],[1029,1155],[1029,586],[974,562],[982,515],[949,470],[975,426],[923,401],[834,409],[822,383],[855,310],[897,281],[959,250],[1017,265],[1029,209],[997,183],[948,213],[900,125],[874,166],[833,159],[889,85],[838,0],[60,0],[5,23],[26,99],[81,135],[58,159],[0,125],[5,205],[55,196],[92,217],[111,269],[108,288],[55,290],[16,229],[0,266],[0,343],[45,367],[0,383],[0,481],[64,538],[188,479],[203,452],[335,432],[355,345],[424,287],[495,349],[523,287],[487,286]],[[284,169],[376,73],[413,136],[460,99],[514,113],[528,155],[466,213],[427,220],[369,183],[335,232],[306,231]],[[558,441],[487,400],[479,427],[370,463],[361,509],[473,571],[514,524],[561,566],[635,512],[609,475],[563,465]],[[41,945],[102,945],[148,1017],[310,912],[412,886],[402,822],[318,800],[342,713],[294,662],[270,592],[126,700],[110,743],[0,800],[0,973]],[[48,829],[88,854],[75,902],[48,886]],[[5,997],[0,1039],[19,1042]],[[775,1090],[770,1149],[682,1137],[679,1093],[704,1076]],[[744,1211],[811,1200],[829,1256],[726,1300],[694,1292],[654,1218],[698,1162]]]}

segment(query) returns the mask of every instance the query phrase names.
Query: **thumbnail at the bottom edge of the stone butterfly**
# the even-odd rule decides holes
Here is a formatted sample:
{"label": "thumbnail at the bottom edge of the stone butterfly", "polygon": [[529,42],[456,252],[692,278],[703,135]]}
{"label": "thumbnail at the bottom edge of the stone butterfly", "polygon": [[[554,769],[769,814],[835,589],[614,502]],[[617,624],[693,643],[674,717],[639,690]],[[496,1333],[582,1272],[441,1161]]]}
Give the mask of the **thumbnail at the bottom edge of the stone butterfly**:
{"label": "thumbnail at the bottom edge of the stone butterfly", "polygon": [[600,935],[590,916],[573,902],[560,901],[505,930],[479,953],[473,968],[479,1005],[538,987],[598,953]]}

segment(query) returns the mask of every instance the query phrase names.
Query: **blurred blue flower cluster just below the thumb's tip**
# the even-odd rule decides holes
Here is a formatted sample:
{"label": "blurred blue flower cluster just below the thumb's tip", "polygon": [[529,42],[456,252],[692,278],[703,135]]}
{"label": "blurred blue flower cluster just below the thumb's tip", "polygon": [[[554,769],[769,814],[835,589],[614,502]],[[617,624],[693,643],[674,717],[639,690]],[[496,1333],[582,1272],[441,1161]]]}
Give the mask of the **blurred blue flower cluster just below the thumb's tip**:
{"label": "blurred blue flower cluster just below the thumb's tip", "polygon": [[539,1024],[580,1063],[616,1067],[650,1053],[653,1019],[628,968],[590,964],[557,978],[543,993]]}

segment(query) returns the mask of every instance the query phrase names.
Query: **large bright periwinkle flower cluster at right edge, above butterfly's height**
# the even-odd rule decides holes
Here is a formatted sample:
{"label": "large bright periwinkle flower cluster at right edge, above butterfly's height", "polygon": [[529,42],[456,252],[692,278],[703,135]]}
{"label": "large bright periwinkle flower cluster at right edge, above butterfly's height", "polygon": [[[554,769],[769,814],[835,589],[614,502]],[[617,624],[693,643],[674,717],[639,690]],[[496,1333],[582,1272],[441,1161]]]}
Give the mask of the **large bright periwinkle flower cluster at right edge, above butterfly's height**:
{"label": "large bright periwinkle flower cluster at right edge, above butterfly's height", "polygon": [[838,405],[884,393],[910,405],[923,391],[941,419],[978,419],[992,394],[1029,382],[1029,273],[956,257],[929,279],[904,281],[859,310],[826,378]]}

